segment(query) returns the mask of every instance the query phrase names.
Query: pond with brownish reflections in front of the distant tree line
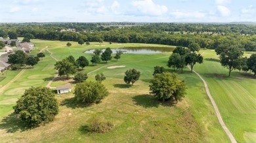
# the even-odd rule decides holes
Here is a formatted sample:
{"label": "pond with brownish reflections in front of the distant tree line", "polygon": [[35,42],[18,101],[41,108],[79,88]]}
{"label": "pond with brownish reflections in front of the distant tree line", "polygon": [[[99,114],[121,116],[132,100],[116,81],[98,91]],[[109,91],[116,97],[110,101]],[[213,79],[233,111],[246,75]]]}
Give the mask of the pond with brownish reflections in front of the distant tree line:
{"label": "pond with brownish reflections in front of the distant tree line", "polygon": [[[126,47],[111,49],[113,54],[116,54],[117,51],[121,50],[124,54],[158,54],[164,52],[172,52],[174,48],[171,47]],[[93,54],[95,50],[87,50],[85,53]],[[104,52],[104,49],[102,49]]]}

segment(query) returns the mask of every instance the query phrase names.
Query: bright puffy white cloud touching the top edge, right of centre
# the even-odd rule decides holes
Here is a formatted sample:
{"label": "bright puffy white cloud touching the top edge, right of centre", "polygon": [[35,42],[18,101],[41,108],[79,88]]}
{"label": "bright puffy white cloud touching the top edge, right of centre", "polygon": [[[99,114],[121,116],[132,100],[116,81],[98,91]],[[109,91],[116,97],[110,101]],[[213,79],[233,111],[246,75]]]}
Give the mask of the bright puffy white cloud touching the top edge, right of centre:
{"label": "bright puffy white cloud touching the top edge, right of centre", "polygon": [[157,5],[152,0],[132,1],[132,5],[140,12],[153,16],[161,16],[168,11],[168,8],[165,5]]}

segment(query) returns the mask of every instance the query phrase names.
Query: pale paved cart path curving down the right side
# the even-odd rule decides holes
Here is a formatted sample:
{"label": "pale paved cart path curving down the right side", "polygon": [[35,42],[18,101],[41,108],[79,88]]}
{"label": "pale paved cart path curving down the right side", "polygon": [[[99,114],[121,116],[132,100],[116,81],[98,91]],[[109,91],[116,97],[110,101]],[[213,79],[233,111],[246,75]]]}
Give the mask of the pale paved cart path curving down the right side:
{"label": "pale paved cart path curving down the right side", "polygon": [[[190,67],[188,67],[188,68],[190,69]],[[218,107],[217,107],[215,101],[213,100],[213,97],[211,97],[211,93],[210,93],[210,91],[209,91],[209,88],[208,88],[208,86],[207,86],[205,80],[203,80],[202,76],[201,76],[200,74],[198,74],[198,72],[196,72],[196,71],[194,71],[194,70],[193,70],[193,72],[195,72],[195,73],[201,78],[201,80],[203,81],[203,84],[204,84],[204,87],[205,87],[205,91],[206,91],[206,93],[207,93],[207,95],[208,95],[208,97],[209,97],[209,99],[210,99],[210,101],[211,101],[211,104],[213,104],[213,108],[214,108],[214,110],[215,110],[215,113],[216,113],[216,115],[217,115],[217,118],[218,118],[218,120],[219,120],[219,123],[221,123],[221,127],[223,127],[223,129],[224,129],[224,131],[226,132],[226,135],[228,135],[228,138],[230,139],[230,141],[231,141],[232,143],[236,143],[236,139],[234,138],[234,136],[232,135],[232,133],[228,130],[228,127],[226,127],[226,125],[225,125],[225,123],[224,123],[224,121],[223,121],[223,118],[221,118],[221,114],[220,114],[220,112],[219,112],[219,109],[218,109]]]}

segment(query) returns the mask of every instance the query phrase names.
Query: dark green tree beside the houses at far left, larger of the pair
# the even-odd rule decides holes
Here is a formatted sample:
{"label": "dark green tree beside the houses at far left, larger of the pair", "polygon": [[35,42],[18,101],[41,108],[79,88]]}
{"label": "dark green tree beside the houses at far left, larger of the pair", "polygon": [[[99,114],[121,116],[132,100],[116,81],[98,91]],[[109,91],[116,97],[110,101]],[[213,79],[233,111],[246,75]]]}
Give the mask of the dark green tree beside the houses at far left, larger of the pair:
{"label": "dark green tree beside the houses at far left, larger of the pair", "polygon": [[27,54],[22,50],[17,50],[14,54],[8,56],[8,63],[23,65],[26,63]]}

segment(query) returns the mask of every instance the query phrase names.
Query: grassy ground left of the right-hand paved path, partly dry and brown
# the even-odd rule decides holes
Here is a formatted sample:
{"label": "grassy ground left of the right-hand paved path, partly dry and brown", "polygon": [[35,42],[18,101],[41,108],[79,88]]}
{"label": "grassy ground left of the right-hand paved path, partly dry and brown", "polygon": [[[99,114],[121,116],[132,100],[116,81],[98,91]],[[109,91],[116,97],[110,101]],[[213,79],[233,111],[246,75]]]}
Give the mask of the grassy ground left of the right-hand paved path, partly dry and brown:
{"label": "grassy ground left of the right-hand paved path, partly dry and brown", "polygon": [[[90,48],[121,48],[124,46],[163,46],[156,44],[119,44],[91,43],[80,46],[72,42],[66,47],[66,42],[33,40],[36,54],[46,46],[53,56],[62,59],[67,56],[85,56],[83,52]],[[105,45],[105,46],[103,46]],[[206,53],[207,51],[205,51]],[[82,72],[91,72],[88,80],[94,80],[95,74],[104,73],[103,82],[110,95],[100,104],[81,108],[72,102],[72,93],[56,95],[60,103],[60,113],[53,122],[26,130],[24,124],[11,113],[12,106],[24,89],[30,86],[45,86],[54,75],[54,59],[47,56],[35,65],[34,69],[26,71],[0,94],[0,139],[3,142],[229,142],[224,134],[213,107],[205,93],[203,84],[194,73],[188,69],[179,74],[188,86],[184,100],[173,106],[161,104],[149,94],[149,80],[152,79],[153,67],[166,67],[171,53],[164,54],[123,54],[119,61],[100,63],[86,67]],[[107,67],[123,65],[123,68],[108,69]],[[199,67],[199,66],[198,66]],[[197,67],[197,68],[198,68]],[[138,69],[141,77],[135,86],[129,87],[123,82],[123,73],[130,68]],[[167,67],[166,67],[167,68]],[[93,72],[92,72],[93,71]],[[7,78],[0,82],[7,84],[18,71],[7,71]],[[8,76],[10,75],[10,76]],[[57,80],[51,86],[58,86],[70,80]],[[72,86],[75,86],[72,84]],[[104,118],[114,123],[114,129],[106,134],[88,135],[83,127],[87,120],[94,116]],[[249,132],[251,133],[251,132]],[[250,134],[247,136],[250,136]],[[33,136],[33,137],[32,137]]]}

